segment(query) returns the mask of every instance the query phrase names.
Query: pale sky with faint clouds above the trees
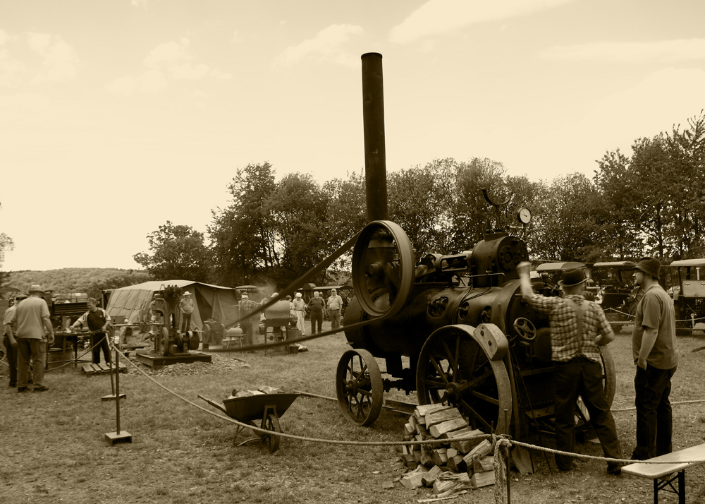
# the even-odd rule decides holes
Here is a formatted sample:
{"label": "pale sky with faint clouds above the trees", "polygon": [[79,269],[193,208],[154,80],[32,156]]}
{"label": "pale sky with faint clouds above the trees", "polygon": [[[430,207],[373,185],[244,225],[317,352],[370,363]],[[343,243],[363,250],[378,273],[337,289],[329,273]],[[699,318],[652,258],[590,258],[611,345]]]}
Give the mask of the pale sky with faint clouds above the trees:
{"label": "pale sky with faint clouds above the trees", "polygon": [[207,232],[250,163],[362,173],[367,52],[388,172],[591,177],[700,114],[704,19],[701,0],[3,1],[1,269],[141,268],[147,234]]}

